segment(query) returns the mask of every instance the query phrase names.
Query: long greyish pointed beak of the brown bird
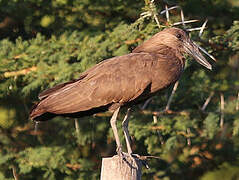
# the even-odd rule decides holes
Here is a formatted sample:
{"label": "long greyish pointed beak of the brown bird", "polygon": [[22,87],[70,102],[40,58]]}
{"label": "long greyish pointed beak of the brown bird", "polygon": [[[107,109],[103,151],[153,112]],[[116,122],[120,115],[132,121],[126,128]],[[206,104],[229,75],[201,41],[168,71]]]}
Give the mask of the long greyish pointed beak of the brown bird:
{"label": "long greyish pointed beak of the brown bird", "polygon": [[194,59],[204,67],[212,70],[212,65],[204,58],[204,56],[200,53],[198,45],[191,41],[190,39],[184,42],[185,51],[194,57]]}

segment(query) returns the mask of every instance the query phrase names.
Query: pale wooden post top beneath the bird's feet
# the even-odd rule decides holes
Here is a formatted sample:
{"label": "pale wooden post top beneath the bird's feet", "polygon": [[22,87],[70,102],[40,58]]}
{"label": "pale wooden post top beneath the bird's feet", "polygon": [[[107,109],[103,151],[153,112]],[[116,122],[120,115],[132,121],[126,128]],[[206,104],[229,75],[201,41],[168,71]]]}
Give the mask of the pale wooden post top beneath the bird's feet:
{"label": "pale wooden post top beneath the bird's feet", "polygon": [[142,162],[126,156],[103,158],[100,180],[141,180]]}

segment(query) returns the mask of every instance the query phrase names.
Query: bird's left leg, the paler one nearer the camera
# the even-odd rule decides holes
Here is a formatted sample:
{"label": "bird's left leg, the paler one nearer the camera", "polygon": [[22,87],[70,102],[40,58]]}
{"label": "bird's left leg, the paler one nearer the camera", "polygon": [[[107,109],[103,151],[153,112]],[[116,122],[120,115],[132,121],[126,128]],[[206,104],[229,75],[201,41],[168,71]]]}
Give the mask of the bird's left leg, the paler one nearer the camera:
{"label": "bird's left leg, the paler one nearer the camera", "polygon": [[111,124],[112,130],[113,130],[113,133],[114,133],[114,136],[115,136],[116,145],[117,145],[116,152],[118,153],[119,156],[121,156],[122,155],[122,148],[121,148],[121,144],[120,144],[118,130],[117,130],[117,127],[116,127],[116,120],[117,120],[117,116],[118,116],[119,110],[120,110],[120,107],[118,107],[115,110],[113,116],[110,119],[110,124]]}

